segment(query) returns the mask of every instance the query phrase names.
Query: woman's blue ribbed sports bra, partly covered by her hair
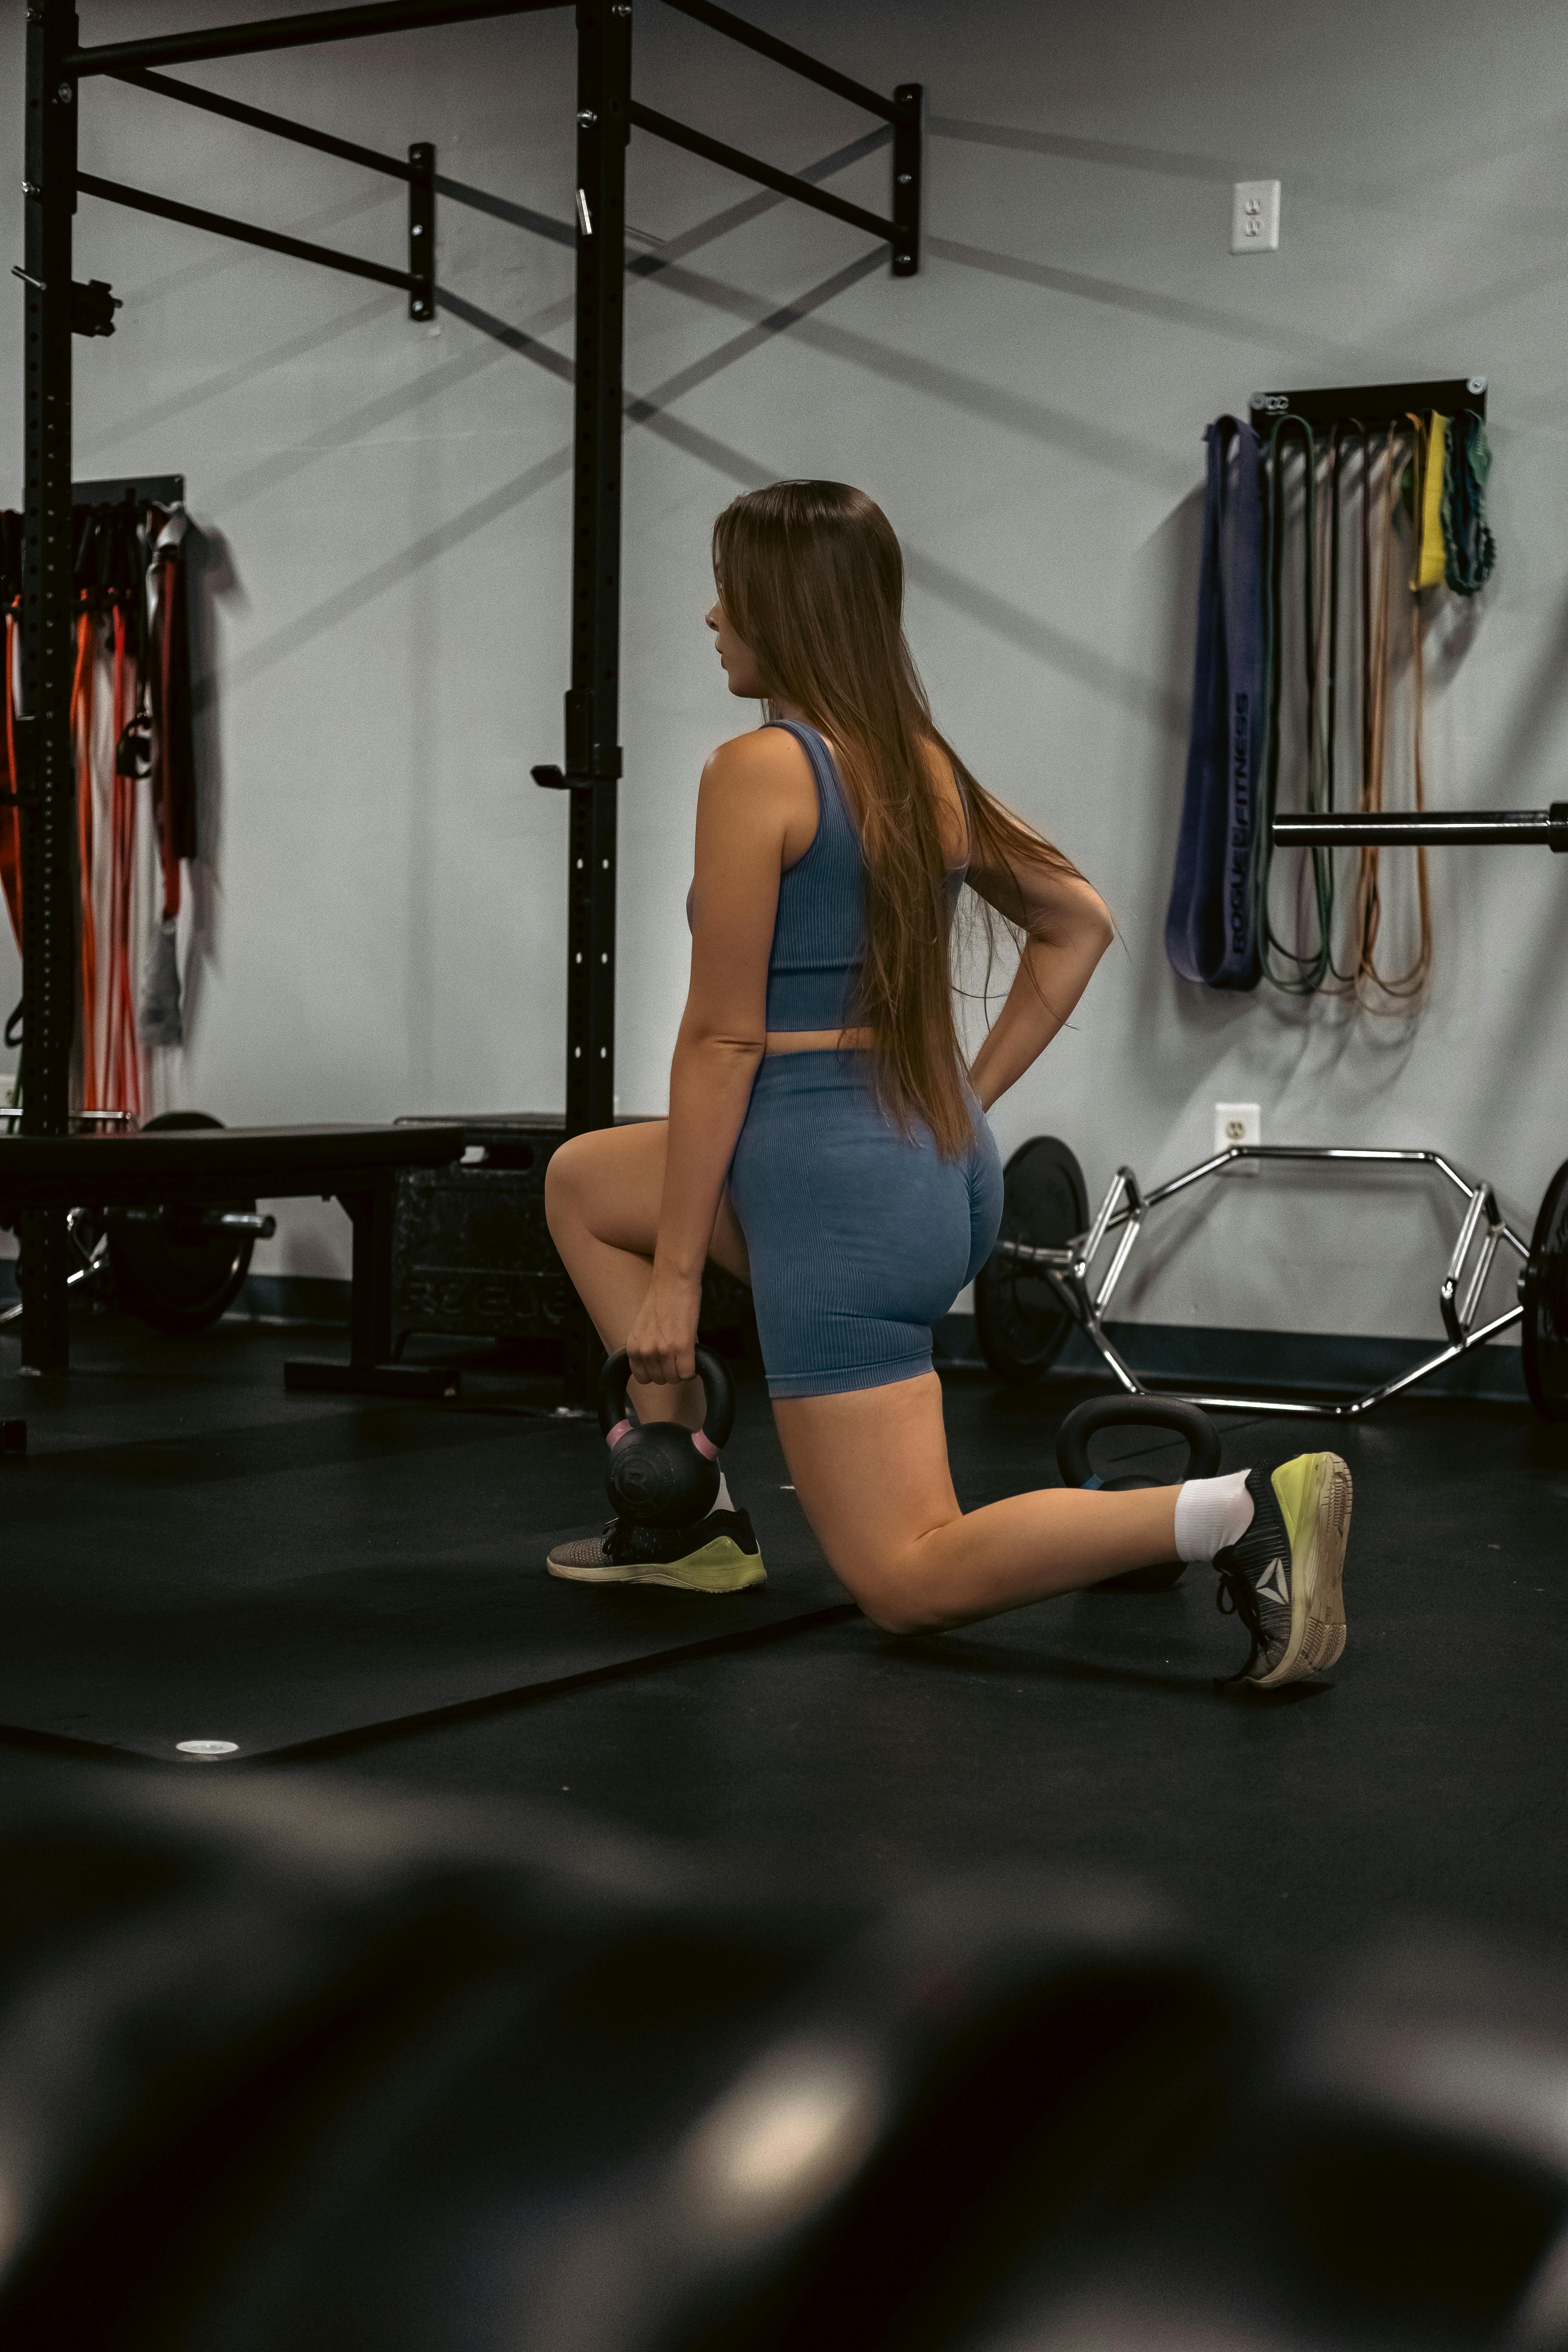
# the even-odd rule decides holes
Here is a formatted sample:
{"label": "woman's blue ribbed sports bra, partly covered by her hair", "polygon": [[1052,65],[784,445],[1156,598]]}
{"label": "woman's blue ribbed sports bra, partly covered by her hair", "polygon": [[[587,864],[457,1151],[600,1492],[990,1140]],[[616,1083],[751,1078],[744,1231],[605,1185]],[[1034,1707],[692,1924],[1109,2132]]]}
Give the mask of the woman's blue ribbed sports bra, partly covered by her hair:
{"label": "woman's blue ribbed sports bra, partly covered by her hair", "polygon": [[[769,720],[792,734],[816,776],[811,849],[778,877],[769,955],[769,1030],[832,1030],[856,1018],[853,983],[865,955],[865,858],[844,786],[816,727]],[[964,866],[947,868],[947,906],[959,901]]]}

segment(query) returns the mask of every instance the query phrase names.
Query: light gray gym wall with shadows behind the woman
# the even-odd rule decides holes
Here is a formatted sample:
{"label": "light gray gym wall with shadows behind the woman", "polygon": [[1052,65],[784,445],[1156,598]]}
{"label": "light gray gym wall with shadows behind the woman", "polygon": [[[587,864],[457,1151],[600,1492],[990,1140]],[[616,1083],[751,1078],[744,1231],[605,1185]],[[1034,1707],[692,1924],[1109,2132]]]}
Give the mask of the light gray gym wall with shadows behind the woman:
{"label": "light gray gym wall with shadows behind the woman", "polygon": [[[85,38],[259,14],[85,0]],[[846,71],[926,82],[929,247],[865,240],[637,136],[630,219],[668,240],[628,289],[621,1103],[656,1110],[684,988],[705,750],[745,720],[701,614],[733,489],[863,482],[900,529],[943,727],[1121,922],[1074,1028],[997,1112],[1065,1134],[1091,1188],[1208,1150],[1213,1101],[1269,1141],[1441,1143],[1528,1221],[1568,1150],[1568,870],[1434,858],[1418,1023],[1206,1000],[1161,953],[1185,755],[1201,428],[1262,383],[1490,379],[1500,560],[1429,708],[1436,802],[1568,793],[1568,400],[1561,89],[1547,0],[1255,12],[1190,0],[755,0]],[[0,21],[7,240],[21,252],[19,0]],[[402,153],[564,223],[571,33],[548,14],[190,78]],[[637,7],[637,92],[806,167],[865,118]],[[96,85],[82,162],[400,259],[402,193]],[[1276,256],[1232,259],[1229,183],[1284,181]],[[882,207],[886,153],[835,188]],[[562,1101],[571,346],[564,242],[442,205],[440,334],[397,294],[82,200],[78,275],[125,296],[78,343],[78,470],[183,470],[209,534],[214,873],[169,1101],[230,1122]],[[654,252],[644,247],[644,252]],[[5,334],[21,489],[19,318]],[[501,339],[498,327],[508,336]],[[0,950],[0,955],[9,953]],[[12,981],[0,971],[0,995]],[[7,997],[9,1002],[9,997]],[[287,1207],[259,1270],[339,1272]],[[1363,1183],[1232,1183],[1161,1228],[1138,1312],[1420,1334],[1446,1204]],[[1180,1247],[1178,1247],[1180,1242]]]}

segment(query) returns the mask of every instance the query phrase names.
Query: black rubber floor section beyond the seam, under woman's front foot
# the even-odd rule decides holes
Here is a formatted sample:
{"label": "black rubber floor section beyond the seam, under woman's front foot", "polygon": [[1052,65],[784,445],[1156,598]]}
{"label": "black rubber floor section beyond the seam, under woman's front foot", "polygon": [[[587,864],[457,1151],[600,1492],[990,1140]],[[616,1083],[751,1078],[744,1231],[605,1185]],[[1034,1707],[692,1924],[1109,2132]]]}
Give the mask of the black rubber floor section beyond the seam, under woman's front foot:
{"label": "black rubber floor section beyond the seam, under woman's front foot", "polygon": [[[733,1599],[541,1571],[604,1519],[597,1425],[510,1397],[360,1404],[282,1390],[284,1338],[118,1331],[56,1381],[2,1381],[0,1724],[176,1759],[244,1757],[559,1686],[842,1609],[780,1489],[766,1414],[733,1454],[776,1581]],[[491,1388],[480,1378],[477,1388]]]}

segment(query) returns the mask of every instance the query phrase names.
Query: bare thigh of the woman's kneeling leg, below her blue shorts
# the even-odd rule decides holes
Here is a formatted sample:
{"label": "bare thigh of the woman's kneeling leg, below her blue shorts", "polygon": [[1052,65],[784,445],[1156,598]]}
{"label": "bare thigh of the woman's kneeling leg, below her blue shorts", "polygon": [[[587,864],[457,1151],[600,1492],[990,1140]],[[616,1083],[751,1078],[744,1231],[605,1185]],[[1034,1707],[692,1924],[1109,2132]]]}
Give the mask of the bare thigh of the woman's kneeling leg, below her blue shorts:
{"label": "bare thigh of the woman's kneeling leg, below her blue shorts", "polygon": [[811,1534],[875,1616],[914,1545],[959,1517],[943,1383],[926,1371],[839,1397],[778,1397],[773,1421]]}

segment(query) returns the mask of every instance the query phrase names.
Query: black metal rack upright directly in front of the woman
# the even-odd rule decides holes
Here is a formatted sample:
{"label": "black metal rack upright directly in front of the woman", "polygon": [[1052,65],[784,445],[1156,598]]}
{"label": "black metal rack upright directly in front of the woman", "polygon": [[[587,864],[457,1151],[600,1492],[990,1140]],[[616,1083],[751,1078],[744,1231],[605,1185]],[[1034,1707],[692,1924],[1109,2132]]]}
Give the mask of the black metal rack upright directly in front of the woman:
{"label": "black metal rack upright directly in front of the woman", "polygon": [[[621,779],[621,400],[630,0],[578,0],[576,449],[571,687],[567,691],[567,1134],[616,1115],[616,797]],[[583,1399],[597,1343],[576,1303],[567,1388]]]}

